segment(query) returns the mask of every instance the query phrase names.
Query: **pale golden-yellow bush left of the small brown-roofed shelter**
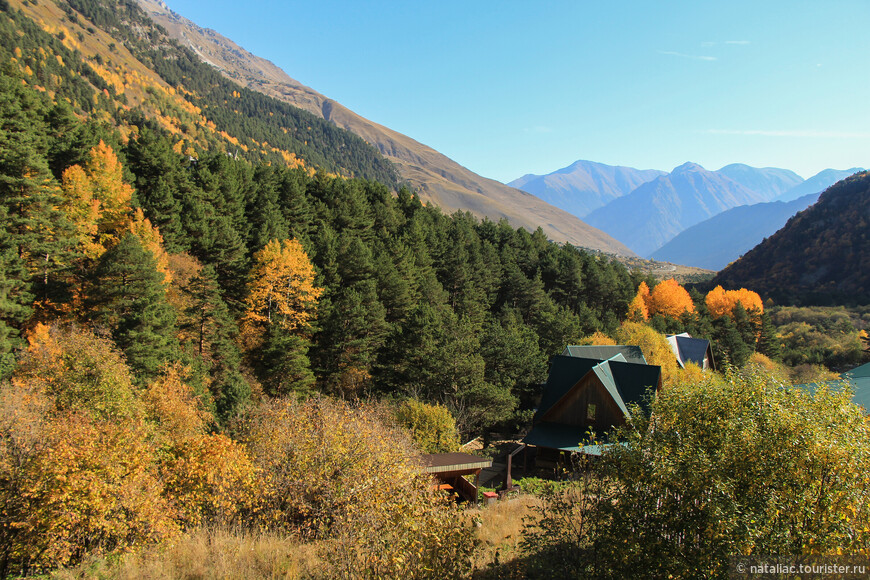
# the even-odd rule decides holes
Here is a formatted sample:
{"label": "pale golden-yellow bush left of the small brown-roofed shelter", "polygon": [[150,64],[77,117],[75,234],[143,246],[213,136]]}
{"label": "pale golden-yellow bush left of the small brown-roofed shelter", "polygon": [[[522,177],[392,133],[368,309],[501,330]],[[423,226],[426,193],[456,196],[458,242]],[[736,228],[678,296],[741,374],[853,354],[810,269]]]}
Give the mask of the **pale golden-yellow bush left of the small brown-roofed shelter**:
{"label": "pale golden-yellow bush left of the small brown-roofed shelter", "polygon": [[267,523],[327,540],[335,577],[456,577],[474,540],[430,488],[406,438],[371,408],[273,400],[240,425]]}

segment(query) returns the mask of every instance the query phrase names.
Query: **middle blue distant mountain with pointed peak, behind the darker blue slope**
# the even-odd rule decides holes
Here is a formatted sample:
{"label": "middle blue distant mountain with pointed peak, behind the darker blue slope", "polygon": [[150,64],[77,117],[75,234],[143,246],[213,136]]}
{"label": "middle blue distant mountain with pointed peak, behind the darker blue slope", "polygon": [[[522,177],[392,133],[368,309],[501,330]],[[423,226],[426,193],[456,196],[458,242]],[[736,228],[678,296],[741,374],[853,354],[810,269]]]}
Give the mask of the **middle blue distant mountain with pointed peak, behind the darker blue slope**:
{"label": "middle blue distant mountain with pointed peak, behind the darker blue slope", "polygon": [[685,163],[595,210],[586,221],[649,256],[688,227],[726,209],[762,201],[763,195],[724,175]]}

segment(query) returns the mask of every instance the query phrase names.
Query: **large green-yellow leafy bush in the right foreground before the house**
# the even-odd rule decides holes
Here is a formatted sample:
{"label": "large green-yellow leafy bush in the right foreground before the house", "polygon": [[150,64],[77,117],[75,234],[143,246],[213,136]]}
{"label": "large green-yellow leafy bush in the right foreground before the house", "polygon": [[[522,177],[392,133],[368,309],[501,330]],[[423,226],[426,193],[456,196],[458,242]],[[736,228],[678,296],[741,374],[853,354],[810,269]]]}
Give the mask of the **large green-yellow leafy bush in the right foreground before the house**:
{"label": "large green-yellow leafy bush in the right foreground before the house", "polygon": [[665,389],[526,533],[531,577],[727,577],[734,555],[870,555],[870,421],[764,375]]}

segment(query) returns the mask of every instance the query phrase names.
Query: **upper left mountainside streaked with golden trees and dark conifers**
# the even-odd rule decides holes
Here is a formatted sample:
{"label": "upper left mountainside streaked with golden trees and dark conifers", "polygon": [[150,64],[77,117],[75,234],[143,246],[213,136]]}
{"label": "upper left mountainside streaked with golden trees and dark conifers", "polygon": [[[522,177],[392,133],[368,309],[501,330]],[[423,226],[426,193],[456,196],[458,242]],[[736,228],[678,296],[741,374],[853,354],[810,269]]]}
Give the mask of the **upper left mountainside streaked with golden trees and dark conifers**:
{"label": "upper left mountainside streaked with golden trees and dark conifers", "polygon": [[[135,131],[134,117],[144,115],[173,133],[180,150],[194,154],[220,150],[397,184],[392,165],[362,139],[240,89],[178,45],[133,2],[13,0],[8,5],[12,26],[27,39],[19,51],[27,52],[7,59],[26,62],[38,90],[66,100],[80,115],[94,119],[90,111],[98,105],[100,121],[122,127],[125,134]],[[70,93],[75,79],[64,71],[70,67],[92,71],[84,75],[90,93]]]}

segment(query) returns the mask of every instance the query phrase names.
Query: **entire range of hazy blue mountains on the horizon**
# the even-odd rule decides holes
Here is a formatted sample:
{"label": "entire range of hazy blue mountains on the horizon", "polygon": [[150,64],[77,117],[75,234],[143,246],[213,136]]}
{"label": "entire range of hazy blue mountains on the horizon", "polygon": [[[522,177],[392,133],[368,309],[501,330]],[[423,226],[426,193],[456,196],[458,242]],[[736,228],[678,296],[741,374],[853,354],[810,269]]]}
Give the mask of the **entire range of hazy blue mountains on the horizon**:
{"label": "entire range of hazy blue mountains on the horizon", "polygon": [[718,171],[685,163],[668,174],[580,160],[510,184],[572,211],[641,256],[719,269],[856,171],[826,169],[804,180],[742,163]]}

